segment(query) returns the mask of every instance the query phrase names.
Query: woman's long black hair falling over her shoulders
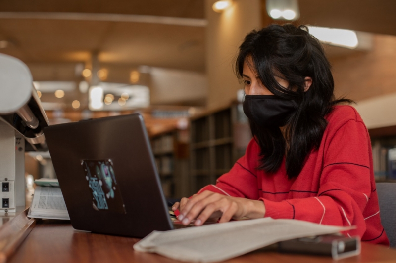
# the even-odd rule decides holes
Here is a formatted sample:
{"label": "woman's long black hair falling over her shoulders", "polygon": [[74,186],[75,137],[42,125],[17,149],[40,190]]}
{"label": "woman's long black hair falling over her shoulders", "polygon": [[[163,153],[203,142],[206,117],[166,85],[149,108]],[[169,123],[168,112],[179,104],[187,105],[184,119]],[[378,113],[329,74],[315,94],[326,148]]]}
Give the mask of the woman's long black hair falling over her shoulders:
{"label": "woman's long black hair falling over her shoulders", "polygon": [[[321,43],[308,33],[306,26],[270,25],[247,34],[235,63],[240,79],[248,57],[269,91],[299,105],[287,121],[285,137],[279,127],[262,128],[249,120],[252,135],[261,149],[258,169],[276,172],[286,153],[286,172],[292,179],[301,172],[309,153],[319,148],[327,126],[325,116],[332,106],[352,101],[335,100],[330,63]],[[287,80],[289,87],[281,86],[274,76]],[[305,77],[312,78],[307,91]]]}

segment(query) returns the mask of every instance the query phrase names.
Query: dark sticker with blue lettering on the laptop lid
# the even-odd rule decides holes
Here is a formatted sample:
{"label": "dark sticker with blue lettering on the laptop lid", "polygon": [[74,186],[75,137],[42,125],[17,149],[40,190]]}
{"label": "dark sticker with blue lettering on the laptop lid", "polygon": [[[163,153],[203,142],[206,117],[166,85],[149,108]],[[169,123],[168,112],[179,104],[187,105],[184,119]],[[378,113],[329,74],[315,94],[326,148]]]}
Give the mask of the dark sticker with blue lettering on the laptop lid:
{"label": "dark sticker with blue lettering on the laptop lid", "polygon": [[82,160],[85,179],[92,195],[92,207],[97,211],[125,214],[125,205],[113,169],[107,160]]}

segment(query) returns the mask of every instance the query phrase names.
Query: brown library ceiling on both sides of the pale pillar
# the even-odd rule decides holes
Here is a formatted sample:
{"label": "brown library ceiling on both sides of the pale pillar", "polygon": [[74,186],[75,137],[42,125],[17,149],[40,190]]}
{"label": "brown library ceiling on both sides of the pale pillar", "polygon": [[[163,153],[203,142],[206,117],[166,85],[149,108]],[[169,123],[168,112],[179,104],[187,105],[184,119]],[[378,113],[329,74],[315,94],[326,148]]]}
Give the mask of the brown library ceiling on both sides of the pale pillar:
{"label": "brown library ceiling on both sides of the pale pillar", "polygon": [[[396,35],[396,1],[299,0],[299,8],[297,23]],[[0,52],[38,80],[75,79],[76,62],[93,53],[108,67],[205,71],[204,0],[19,0],[0,1],[0,10]]]}

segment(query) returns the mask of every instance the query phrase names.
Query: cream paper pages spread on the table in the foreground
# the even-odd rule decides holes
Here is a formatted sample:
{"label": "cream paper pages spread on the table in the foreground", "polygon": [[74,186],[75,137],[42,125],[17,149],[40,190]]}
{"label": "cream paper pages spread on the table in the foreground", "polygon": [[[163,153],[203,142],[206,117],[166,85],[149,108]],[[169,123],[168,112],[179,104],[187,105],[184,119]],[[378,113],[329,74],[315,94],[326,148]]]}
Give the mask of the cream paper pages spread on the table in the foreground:
{"label": "cream paper pages spread on the table in the foreground", "polygon": [[[133,248],[189,262],[231,259],[279,241],[338,233],[353,227],[319,225],[290,219],[260,218],[153,231]],[[352,253],[359,254],[356,249]]]}

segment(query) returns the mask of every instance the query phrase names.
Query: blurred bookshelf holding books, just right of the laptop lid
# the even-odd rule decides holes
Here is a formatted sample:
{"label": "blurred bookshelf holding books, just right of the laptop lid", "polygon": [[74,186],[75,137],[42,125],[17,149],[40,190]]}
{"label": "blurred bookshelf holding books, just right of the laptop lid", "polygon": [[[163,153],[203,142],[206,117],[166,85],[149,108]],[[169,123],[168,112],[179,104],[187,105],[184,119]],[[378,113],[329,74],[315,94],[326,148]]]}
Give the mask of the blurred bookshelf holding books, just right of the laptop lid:
{"label": "blurred bookshelf holding books, just right of the laptop lid", "polygon": [[189,130],[174,129],[150,138],[165,197],[188,194]]}

